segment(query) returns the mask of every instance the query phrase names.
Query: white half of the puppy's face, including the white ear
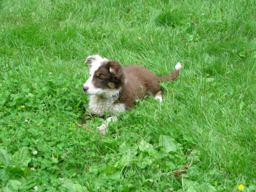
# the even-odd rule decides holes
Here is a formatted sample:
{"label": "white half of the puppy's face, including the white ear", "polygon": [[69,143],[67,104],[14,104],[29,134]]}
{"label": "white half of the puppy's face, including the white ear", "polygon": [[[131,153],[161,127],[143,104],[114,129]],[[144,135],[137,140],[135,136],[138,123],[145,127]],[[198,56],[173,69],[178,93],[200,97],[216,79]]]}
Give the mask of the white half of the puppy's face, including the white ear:
{"label": "white half of the puppy's face, including the white ear", "polygon": [[92,58],[92,59],[91,59],[91,63],[89,64],[90,65],[90,77],[89,77],[89,79],[87,79],[87,81],[84,84],[84,87],[86,87],[88,89],[86,91],[86,93],[89,95],[101,94],[104,92],[104,90],[94,86],[93,75],[94,75],[95,71],[99,69],[102,62],[108,61],[108,59],[102,58],[100,55],[91,55],[91,56],[88,56],[87,59],[88,58]]}

